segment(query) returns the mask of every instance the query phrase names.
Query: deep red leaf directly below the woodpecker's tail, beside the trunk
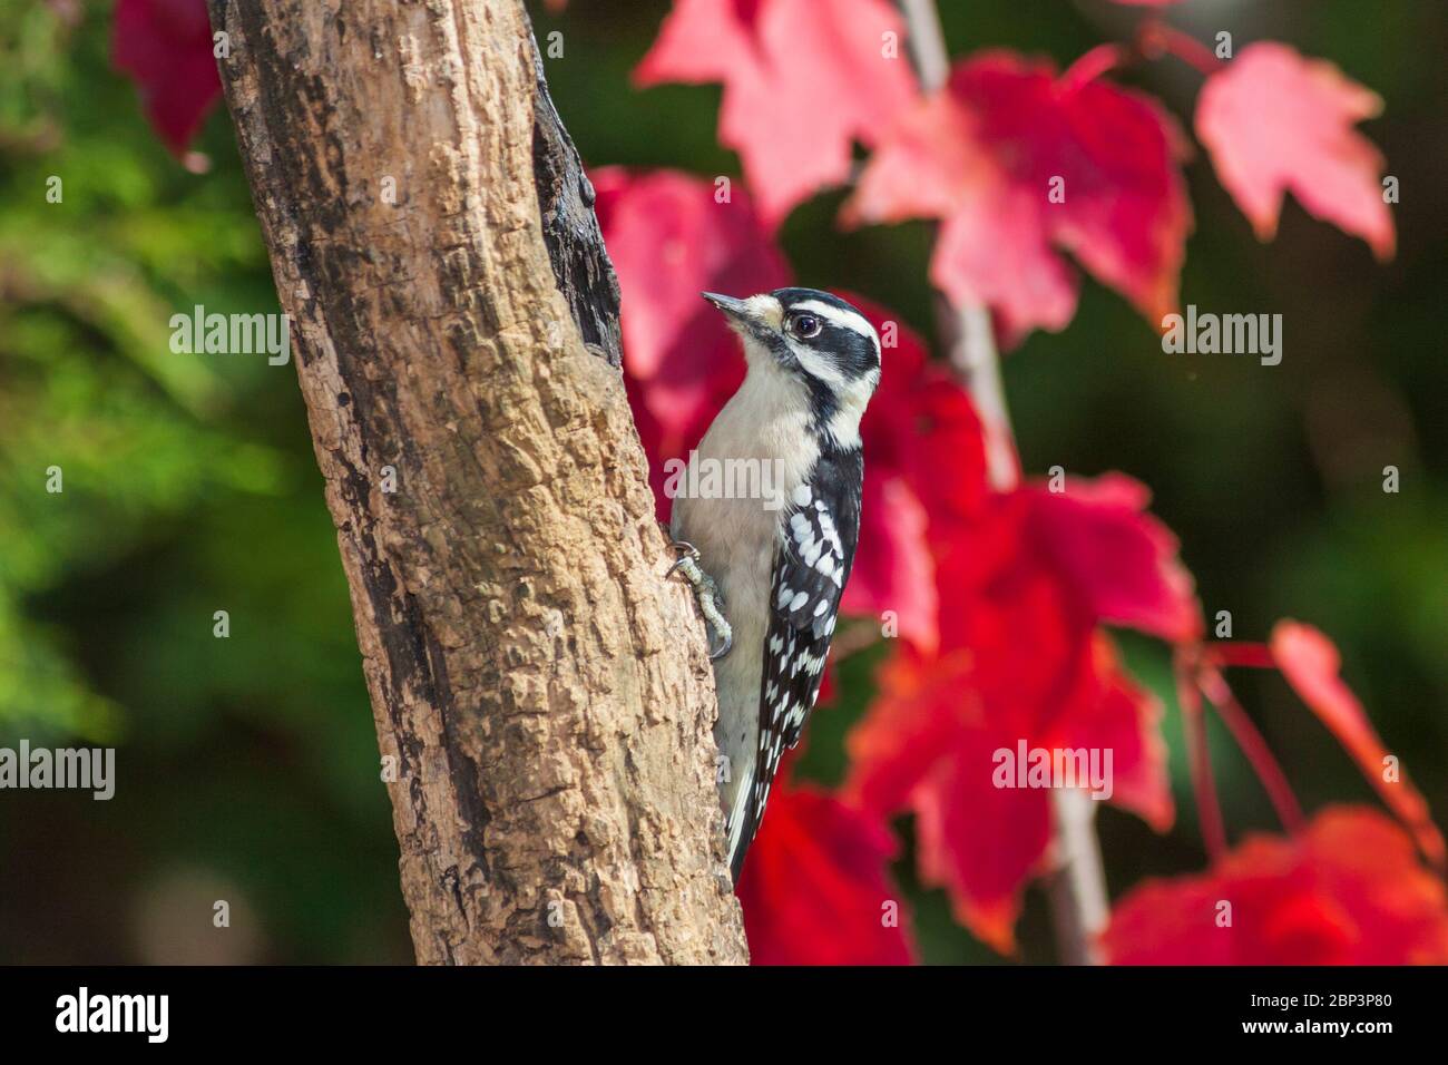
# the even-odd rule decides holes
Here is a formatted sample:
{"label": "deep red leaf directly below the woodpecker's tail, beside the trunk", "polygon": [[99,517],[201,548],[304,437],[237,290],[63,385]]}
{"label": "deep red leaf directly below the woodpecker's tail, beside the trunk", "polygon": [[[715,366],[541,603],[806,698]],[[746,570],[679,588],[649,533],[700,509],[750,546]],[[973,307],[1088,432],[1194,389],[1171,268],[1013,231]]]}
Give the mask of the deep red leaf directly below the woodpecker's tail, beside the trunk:
{"label": "deep red leaf directly below the woodpecker's tail, beside the trunk", "polygon": [[754,965],[909,965],[896,843],[870,814],[780,774],[738,882]]}

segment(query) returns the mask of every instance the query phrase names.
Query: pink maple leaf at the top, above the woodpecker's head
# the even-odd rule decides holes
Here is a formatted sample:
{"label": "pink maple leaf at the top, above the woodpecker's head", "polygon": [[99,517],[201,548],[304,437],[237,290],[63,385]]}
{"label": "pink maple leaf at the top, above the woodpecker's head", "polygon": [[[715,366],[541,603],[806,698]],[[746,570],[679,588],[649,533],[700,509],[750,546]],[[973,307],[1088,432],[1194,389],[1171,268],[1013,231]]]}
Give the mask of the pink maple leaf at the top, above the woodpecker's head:
{"label": "pink maple leaf at the top, above the woodpecker's head", "polygon": [[720,141],[770,227],[843,183],[851,143],[873,145],[915,99],[886,0],[676,0],[634,78],[724,83]]}

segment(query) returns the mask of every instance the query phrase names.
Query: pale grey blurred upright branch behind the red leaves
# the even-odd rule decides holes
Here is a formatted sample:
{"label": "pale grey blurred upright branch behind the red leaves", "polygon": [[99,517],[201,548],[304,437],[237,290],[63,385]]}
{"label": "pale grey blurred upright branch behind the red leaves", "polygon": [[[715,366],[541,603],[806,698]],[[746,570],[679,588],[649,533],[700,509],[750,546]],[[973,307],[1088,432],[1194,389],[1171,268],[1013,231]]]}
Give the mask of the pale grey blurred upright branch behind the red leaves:
{"label": "pale grey blurred upright branch behind the red leaves", "polygon": [[[927,93],[934,91],[946,84],[950,74],[935,0],[899,0],[899,7],[921,87]],[[1011,491],[1019,484],[1021,464],[1001,383],[1001,355],[990,310],[982,304],[956,307],[940,296],[937,320],[950,365],[980,414],[990,487]],[[1096,940],[1109,914],[1095,829],[1096,807],[1079,788],[1056,788],[1051,791],[1051,811],[1058,866],[1047,890],[1060,958],[1069,965],[1095,965],[1100,962]]]}

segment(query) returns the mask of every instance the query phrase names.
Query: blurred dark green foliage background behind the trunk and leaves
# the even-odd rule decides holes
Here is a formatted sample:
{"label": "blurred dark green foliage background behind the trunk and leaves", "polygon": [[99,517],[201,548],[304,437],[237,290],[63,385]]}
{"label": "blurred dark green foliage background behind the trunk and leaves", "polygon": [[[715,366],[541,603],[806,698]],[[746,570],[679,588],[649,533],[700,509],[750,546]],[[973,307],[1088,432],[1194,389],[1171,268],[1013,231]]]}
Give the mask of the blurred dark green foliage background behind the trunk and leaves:
{"label": "blurred dark green foliage background behind the trunk and leaves", "polygon": [[[718,87],[637,93],[628,71],[665,0],[575,0],[537,30],[559,110],[589,164],[737,174],[715,143]],[[943,0],[951,52],[1001,45],[1069,64],[1125,36],[1105,1]],[[74,26],[65,13],[77,17]],[[1237,46],[1273,38],[1331,58],[1386,100],[1365,126],[1402,184],[1387,264],[1295,203],[1260,245],[1209,164],[1189,170],[1196,233],[1183,303],[1280,312],[1286,355],[1164,356],[1153,329],[1086,283],[1061,335],[1006,362],[1027,469],[1122,469],[1153,487],[1208,614],[1239,639],[1283,616],[1342,648],[1390,751],[1448,822],[1448,139],[1436,0],[1189,0],[1176,25]],[[167,154],[109,61],[109,3],[0,0],[0,745],[117,748],[109,803],[0,793],[0,962],[405,962],[397,845],[378,778],[346,584],[295,371],[261,356],[172,355],[168,319],[275,312],[224,112],[193,174]],[[1127,81],[1190,114],[1170,61]],[[46,180],[64,203],[46,203]],[[930,335],[925,226],[840,233],[841,193],[786,223],[802,284],[846,287]],[[1381,491],[1384,465],[1402,491]],[[64,493],[45,491],[61,467]],[[230,636],[213,636],[226,610]],[[1156,836],[1106,810],[1114,894],[1196,871],[1166,651],[1122,638],[1167,706],[1179,823]],[[872,653],[841,671],[802,767],[835,782]],[[1239,694],[1303,803],[1371,801],[1347,756],[1274,675]],[[1274,829],[1242,759],[1213,735],[1229,832]],[[941,893],[908,887],[927,961],[1001,961]],[[211,901],[232,927],[211,926]],[[1040,888],[1019,961],[1054,958]]]}

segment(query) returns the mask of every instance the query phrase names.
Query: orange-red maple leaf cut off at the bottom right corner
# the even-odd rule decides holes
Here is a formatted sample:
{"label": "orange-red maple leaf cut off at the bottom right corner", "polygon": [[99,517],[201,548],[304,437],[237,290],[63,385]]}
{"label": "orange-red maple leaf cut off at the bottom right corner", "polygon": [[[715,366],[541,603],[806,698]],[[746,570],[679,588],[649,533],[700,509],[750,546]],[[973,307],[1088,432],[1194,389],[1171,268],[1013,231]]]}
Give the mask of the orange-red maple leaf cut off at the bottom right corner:
{"label": "orange-red maple leaf cut off at the bottom right corner", "polygon": [[1121,965],[1444,965],[1448,895],[1376,810],[1322,810],[1296,839],[1254,835],[1203,875],[1150,880],[1115,907]]}

